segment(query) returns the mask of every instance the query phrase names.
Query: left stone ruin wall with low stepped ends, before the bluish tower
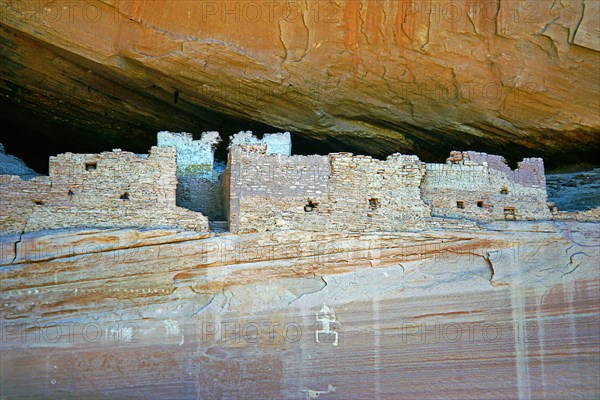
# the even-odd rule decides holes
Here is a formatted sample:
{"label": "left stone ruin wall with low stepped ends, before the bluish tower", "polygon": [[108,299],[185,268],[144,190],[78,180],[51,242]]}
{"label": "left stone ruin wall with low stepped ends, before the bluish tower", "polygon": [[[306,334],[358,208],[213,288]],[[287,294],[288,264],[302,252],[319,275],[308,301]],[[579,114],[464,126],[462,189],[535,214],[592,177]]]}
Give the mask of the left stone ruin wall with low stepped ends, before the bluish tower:
{"label": "left stone ruin wall with low stepped ends, before the bluish tower", "polygon": [[50,158],[50,176],[0,176],[2,234],[72,227],[175,227],[208,231],[201,213],[175,205],[176,152],[114,150]]}

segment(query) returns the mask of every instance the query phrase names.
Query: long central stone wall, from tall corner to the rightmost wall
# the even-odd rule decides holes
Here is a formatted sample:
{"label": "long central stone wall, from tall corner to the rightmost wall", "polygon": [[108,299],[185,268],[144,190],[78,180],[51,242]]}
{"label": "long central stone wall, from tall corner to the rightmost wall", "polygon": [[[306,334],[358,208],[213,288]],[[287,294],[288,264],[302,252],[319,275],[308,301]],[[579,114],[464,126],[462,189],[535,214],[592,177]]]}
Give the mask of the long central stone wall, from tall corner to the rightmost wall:
{"label": "long central stone wall, from tall corner to the rightmost wall", "polygon": [[226,178],[230,230],[417,228],[430,219],[421,200],[424,173],[416,156],[285,157],[261,144],[235,146]]}

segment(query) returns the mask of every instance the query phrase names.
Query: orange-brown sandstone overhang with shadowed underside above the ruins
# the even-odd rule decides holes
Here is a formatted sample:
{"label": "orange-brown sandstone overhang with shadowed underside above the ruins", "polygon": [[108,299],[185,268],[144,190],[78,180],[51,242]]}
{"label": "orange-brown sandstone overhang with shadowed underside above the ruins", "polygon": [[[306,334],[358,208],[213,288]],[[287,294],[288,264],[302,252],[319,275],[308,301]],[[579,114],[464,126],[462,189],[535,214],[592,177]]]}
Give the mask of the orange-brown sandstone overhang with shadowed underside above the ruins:
{"label": "orange-brown sandstone overhang with shadowed underside above the ruins", "polygon": [[55,153],[147,148],[163,129],[274,126],[361,154],[575,163],[600,148],[599,7],[7,1],[4,117]]}

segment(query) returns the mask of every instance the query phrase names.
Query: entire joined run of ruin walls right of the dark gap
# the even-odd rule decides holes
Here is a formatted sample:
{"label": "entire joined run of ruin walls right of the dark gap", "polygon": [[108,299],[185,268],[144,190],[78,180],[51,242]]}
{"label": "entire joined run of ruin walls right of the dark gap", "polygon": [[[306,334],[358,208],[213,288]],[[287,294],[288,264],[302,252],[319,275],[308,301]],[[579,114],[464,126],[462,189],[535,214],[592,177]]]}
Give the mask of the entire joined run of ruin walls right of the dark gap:
{"label": "entire joined run of ruin walls right of the dark gap", "polygon": [[399,153],[384,161],[268,153],[264,144],[231,148],[223,180],[231,232],[471,229],[475,221],[552,219],[539,158],[513,170],[503,157],[476,152],[454,151],[445,164]]}

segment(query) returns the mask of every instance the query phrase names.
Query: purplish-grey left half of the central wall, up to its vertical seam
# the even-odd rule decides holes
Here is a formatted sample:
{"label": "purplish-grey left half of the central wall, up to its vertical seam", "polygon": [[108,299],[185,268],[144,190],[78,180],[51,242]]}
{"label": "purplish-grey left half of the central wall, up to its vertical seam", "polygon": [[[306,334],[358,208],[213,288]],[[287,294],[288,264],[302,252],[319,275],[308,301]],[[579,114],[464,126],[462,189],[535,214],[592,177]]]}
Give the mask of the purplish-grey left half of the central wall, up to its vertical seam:
{"label": "purplish-grey left half of the central wall, up to its vertical seam", "polygon": [[229,151],[224,201],[232,232],[304,228],[326,217],[304,211],[308,199],[320,201],[327,191],[326,156],[266,154],[266,145],[234,146]]}

